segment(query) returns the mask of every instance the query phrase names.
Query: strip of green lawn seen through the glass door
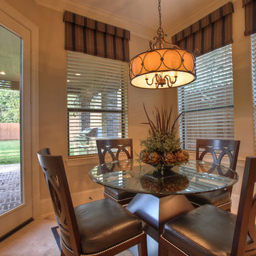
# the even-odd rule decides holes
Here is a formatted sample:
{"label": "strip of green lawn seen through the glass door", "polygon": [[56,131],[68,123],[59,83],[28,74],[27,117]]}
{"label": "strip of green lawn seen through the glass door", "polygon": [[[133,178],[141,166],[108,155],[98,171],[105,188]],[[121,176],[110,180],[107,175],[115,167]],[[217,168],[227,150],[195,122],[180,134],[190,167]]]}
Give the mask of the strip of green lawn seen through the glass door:
{"label": "strip of green lawn seen through the glass door", "polygon": [[20,161],[20,141],[0,141],[0,164],[18,164]]}

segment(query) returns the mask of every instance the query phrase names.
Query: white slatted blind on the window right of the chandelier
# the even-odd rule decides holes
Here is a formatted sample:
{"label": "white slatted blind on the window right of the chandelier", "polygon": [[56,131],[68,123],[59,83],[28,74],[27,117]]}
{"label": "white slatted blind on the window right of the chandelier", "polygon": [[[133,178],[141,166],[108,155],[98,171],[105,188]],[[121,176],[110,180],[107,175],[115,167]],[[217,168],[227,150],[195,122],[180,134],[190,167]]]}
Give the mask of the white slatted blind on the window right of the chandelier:
{"label": "white slatted blind on the window right of the chandelier", "polygon": [[196,150],[196,139],[234,139],[231,45],[196,58],[196,77],[178,87],[179,134],[189,150]]}

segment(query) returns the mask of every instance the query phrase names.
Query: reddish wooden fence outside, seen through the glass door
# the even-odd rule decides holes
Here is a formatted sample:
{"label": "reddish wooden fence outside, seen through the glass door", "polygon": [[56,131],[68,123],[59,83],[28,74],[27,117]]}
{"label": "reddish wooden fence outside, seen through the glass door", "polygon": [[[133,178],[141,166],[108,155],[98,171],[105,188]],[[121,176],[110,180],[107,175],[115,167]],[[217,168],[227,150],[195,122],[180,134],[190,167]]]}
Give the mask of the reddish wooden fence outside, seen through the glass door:
{"label": "reddish wooden fence outside, seen through the glass door", "polygon": [[0,123],[0,140],[20,139],[19,123]]}

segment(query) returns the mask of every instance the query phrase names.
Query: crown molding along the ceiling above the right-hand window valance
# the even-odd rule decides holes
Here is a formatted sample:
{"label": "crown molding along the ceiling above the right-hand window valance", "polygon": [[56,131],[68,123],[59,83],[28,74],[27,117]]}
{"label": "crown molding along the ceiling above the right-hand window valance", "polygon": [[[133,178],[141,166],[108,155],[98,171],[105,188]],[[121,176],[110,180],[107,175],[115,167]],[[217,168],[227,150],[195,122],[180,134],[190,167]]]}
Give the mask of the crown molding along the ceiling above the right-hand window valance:
{"label": "crown molding along the ceiling above the right-hand window valance", "polygon": [[205,17],[216,9],[220,8],[224,4],[227,4],[230,0],[215,0],[210,1],[209,4],[205,4],[193,11],[193,14],[186,16],[182,21],[178,21],[174,23],[169,30],[166,31],[167,35],[174,36],[179,31],[182,31],[184,28],[191,26],[191,24],[195,23],[199,19]]}

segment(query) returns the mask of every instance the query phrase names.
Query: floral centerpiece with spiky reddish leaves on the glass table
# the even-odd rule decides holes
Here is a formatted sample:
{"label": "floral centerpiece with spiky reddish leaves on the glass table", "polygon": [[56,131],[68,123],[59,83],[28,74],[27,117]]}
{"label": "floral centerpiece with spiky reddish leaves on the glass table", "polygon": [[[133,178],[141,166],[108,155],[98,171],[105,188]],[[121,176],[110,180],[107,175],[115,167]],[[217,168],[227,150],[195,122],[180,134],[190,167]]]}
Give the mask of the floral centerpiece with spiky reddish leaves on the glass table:
{"label": "floral centerpiece with spiky reddish leaves on the glass table", "polygon": [[159,111],[156,107],[156,111],[153,112],[154,119],[149,118],[145,105],[144,110],[149,121],[146,124],[149,124],[150,129],[146,138],[141,140],[143,149],[139,153],[140,161],[161,167],[162,171],[186,163],[189,158],[188,152],[181,149],[181,142],[176,137],[176,122],[182,113],[171,123],[172,108],[167,110],[162,107]]}

